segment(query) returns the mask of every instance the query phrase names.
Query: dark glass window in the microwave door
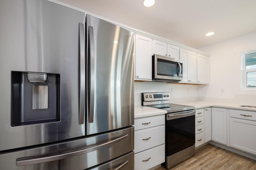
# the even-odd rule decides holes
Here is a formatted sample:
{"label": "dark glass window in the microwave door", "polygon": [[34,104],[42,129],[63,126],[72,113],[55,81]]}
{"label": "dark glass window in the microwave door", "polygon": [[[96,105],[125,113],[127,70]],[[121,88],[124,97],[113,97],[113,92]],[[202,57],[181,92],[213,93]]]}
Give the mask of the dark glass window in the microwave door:
{"label": "dark glass window in the microwave door", "polygon": [[177,63],[157,59],[157,74],[162,76],[177,76]]}

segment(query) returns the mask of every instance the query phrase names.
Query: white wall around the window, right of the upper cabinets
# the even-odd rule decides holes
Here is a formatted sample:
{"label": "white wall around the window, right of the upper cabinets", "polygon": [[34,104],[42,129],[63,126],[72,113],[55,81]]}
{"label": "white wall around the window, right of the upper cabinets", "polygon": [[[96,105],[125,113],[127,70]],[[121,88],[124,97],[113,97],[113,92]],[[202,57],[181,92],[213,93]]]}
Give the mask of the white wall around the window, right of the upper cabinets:
{"label": "white wall around the window, right of the upper cabinets", "polygon": [[198,97],[256,101],[256,90],[242,90],[240,86],[241,52],[252,49],[256,49],[256,31],[200,48],[211,55],[210,84],[198,86]]}

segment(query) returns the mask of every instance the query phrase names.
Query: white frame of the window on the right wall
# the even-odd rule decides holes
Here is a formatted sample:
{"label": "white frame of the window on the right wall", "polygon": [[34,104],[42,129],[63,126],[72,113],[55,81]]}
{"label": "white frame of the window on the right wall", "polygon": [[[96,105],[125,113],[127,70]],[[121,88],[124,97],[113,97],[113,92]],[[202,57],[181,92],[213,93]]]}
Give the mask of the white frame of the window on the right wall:
{"label": "white frame of the window on the right wall", "polygon": [[256,53],[256,49],[250,50],[250,51],[244,51],[241,53],[241,59],[242,59],[242,64],[241,64],[241,72],[242,72],[242,81],[241,81],[241,88],[243,90],[256,90],[256,87],[247,87],[247,73],[248,72],[256,72],[256,68],[253,69],[246,69],[246,55],[251,54],[251,53]]}

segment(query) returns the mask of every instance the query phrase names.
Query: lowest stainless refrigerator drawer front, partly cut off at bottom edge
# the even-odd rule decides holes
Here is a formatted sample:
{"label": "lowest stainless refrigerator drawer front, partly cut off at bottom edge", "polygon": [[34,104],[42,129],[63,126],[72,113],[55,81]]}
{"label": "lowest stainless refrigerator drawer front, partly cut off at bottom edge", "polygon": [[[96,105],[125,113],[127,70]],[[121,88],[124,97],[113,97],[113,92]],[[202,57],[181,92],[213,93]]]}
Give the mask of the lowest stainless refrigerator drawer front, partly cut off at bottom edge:
{"label": "lowest stainless refrigerator drawer front, partly cut off at bottom edge", "polygon": [[134,152],[86,170],[133,170]]}

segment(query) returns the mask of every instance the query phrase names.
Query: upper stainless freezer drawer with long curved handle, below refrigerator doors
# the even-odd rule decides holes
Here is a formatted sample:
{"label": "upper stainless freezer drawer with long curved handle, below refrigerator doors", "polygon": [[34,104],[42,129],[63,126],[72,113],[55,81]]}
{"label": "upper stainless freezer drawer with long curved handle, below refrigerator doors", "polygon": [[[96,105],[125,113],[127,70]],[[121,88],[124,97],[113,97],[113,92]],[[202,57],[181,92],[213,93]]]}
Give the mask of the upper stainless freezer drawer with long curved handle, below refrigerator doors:
{"label": "upper stainless freezer drawer with long curved handle, below refrigerator doors", "polygon": [[[66,143],[1,153],[0,164],[4,170],[84,170],[132,152],[133,141],[134,127],[130,127]],[[132,162],[130,158],[129,161]]]}

